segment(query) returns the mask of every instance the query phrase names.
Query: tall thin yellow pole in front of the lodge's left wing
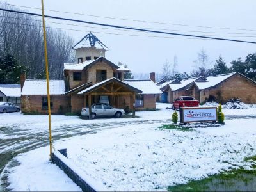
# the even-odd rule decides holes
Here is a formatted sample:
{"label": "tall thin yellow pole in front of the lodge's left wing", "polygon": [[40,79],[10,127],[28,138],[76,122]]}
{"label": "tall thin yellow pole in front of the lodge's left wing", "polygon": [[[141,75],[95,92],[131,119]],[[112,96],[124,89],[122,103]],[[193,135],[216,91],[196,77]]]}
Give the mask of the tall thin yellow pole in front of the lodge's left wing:
{"label": "tall thin yellow pole in front of the lodge's left wing", "polygon": [[42,18],[43,18],[43,29],[44,29],[44,56],[45,56],[45,71],[46,71],[46,82],[47,82],[47,102],[48,102],[48,118],[49,118],[49,140],[50,140],[50,159],[52,158],[52,127],[51,127],[51,100],[49,90],[49,72],[48,72],[48,59],[47,59],[47,44],[46,44],[46,32],[44,22],[44,0],[42,2]]}

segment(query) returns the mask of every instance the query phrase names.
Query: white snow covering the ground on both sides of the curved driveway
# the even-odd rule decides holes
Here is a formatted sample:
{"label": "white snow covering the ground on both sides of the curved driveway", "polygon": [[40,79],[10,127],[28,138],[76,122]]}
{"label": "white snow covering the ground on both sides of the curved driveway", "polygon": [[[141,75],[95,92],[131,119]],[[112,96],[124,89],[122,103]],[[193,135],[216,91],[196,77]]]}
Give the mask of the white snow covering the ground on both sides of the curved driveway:
{"label": "white snow covering the ground on both sides of the curved driveway", "polygon": [[[81,120],[74,116],[56,115],[52,116],[52,122],[53,127],[58,129],[72,124],[170,119],[172,110],[165,108],[171,105],[157,105],[160,111],[139,112],[136,115],[140,118],[136,119]],[[223,113],[230,116],[256,116],[255,108],[223,109]],[[21,121],[23,117],[27,118],[22,116]],[[43,123],[40,119],[44,115],[31,117],[29,122],[24,120],[26,129],[31,129],[31,132],[34,131],[33,127],[41,130],[39,124],[47,125],[47,121]],[[33,122],[36,124],[29,128]],[[160,122],[129,122],[115,129],[102,129],[96,134],[57,140],[54,146],[58,149],[67,148],[68,160],[76,164],[84,175],[92,177],[110,191],[163,191],[170,185],[202,179],[207,174],[221,170],[238,167],[250,169],[250,163],[243,159],[256,155],[256,118],[228,119],[225,126],[196,128],[192,131],[160,129]],[[15,124],[14,119],[12,124]],[[9,168],[9,187],[14,191],[81,190],[56,165],[48,163],[48,158],[49,147],[17,156],[20,165]]]}

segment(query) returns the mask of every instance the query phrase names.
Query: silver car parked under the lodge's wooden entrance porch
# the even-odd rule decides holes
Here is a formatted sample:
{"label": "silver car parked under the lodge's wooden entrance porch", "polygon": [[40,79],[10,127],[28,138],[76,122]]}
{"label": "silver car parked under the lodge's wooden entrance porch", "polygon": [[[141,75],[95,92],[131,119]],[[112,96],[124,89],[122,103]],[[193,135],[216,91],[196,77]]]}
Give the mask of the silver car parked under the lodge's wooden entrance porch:
{"label": "silver car parked under the lodge's wooden entrance porch", "polygon": [[[97,103],[92,105],[91,118],[93,119],[96,116],[116,116],[117,118],[120,118],[124,113],[124,109],[117,109],[108,104]],[[89,108],[82,108],[81,115],[89,116]]]}

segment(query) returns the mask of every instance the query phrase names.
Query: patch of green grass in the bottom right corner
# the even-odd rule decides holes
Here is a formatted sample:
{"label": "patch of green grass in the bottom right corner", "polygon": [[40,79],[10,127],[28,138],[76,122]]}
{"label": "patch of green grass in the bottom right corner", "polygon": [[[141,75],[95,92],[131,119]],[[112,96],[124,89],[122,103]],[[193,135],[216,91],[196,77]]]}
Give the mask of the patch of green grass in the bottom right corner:
{"label": "patch of green grass in the bottom right corner", "polygon": [[254,191],[256,170],[243,168],[211,175],[203,180],[191,180],[188,184],[169,186],[168,191]]}

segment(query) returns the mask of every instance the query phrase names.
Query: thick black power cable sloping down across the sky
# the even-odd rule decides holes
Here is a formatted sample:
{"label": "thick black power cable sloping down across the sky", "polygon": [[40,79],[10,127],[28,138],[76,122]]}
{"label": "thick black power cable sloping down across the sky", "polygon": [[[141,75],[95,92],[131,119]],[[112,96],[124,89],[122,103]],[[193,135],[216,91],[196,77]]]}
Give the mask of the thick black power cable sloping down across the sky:
{"label": "thick black power cable sloping down across the sky", "polygon": [[[0,10],[6,11],[6,12],[21,13],[21,14],[26,14],[26,15],[35,15],[35,16],[39,16],[39,17],[42,16],[42,15],[37,14],[37,13],[20,12],[20,11],[15,11],[15,10],[7,10],[7,9],[3,9],[3,8],[0,8]],[[55,16],[51,16],[51,15],[45,15],[45,17],[52,18],[52,19],[68,20],[68,21],[72,21],[72,22],[81,22],[81,23],[86,23],[86,24],[94,24],[94,25],[98,25],[98,26],[107,26],[107,27],[111,27],[111,28],[132,29],[134,31],[145,31],[145,32],[150,32],[150,33],[159,33],[159,34],[166,34],[166,35],[190,36],[190,37],[205,38],[205,39],[212,39],[212,40],[225,40],[225,41],[231,41],[231,42],[243,42],[243,43],[249,43],[249,44],[256,44],[256,42],[243,41],[243,40],[234,40],[234,39],[227,39],[227,38],[216,38],[216,37],[199,36],[199,35],[187,35],[187,34],[182,34],[182,33],[169,33],[169,32],[164,32],[164,31],[153,31],[153,30],[140,29],[140,28],[116,26],[116,25],[112,25],[112,24],[102,24],[102,23],[98,23],[98,22],[89,22],[89,21],[84,21],[84,20],[67,19],[67,18],[55,17]]]}

